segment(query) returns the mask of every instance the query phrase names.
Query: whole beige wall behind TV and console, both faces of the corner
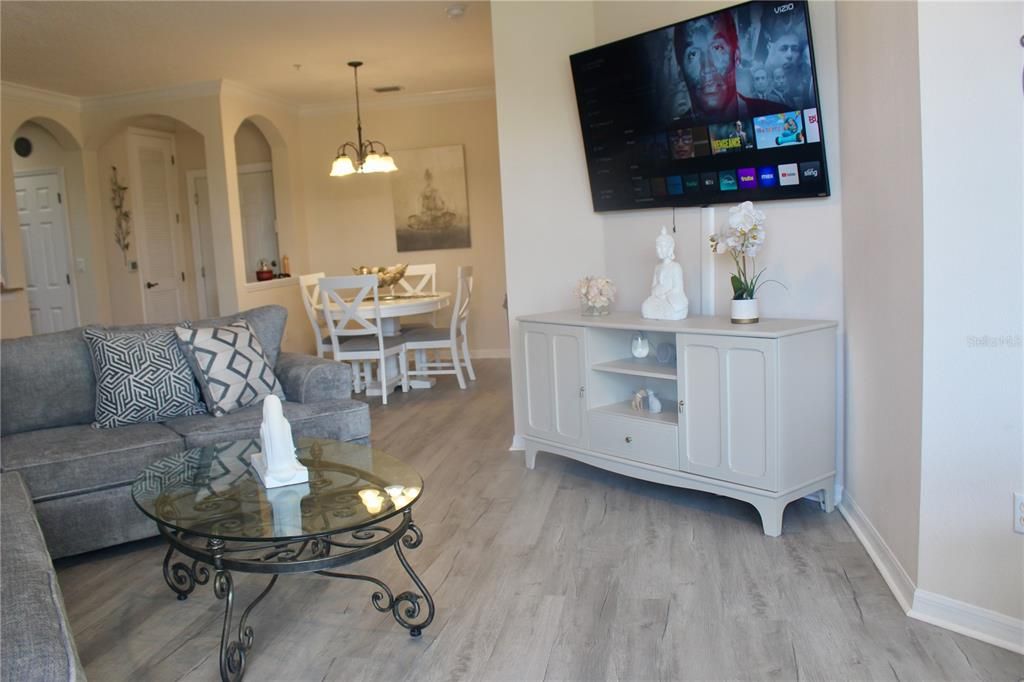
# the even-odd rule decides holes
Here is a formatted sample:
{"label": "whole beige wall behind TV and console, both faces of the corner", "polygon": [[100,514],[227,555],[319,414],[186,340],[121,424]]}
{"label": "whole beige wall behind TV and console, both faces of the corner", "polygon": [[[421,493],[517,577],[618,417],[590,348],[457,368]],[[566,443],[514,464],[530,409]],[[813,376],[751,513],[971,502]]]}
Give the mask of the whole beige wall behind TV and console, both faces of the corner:
{"label": "whole beige wall behind TV and console, both faces of the corner", "polygon": [[[656,29],[732,3],[719,2],[551,2],[497,3],[492,8],[495,77],[502,143],[506,253],[510,305],[515,315],[577,305],[569,289],[588,273],[606,273],[618,288],[615,307],[639,309],[650,293],[656,263],[654,238],[671,225],[669,210],[617,211],[595,214],[591,205],[579,114],[569,71],[569,54],[640,32]],[[826,199],[771,202],[761,208],[769,217],[769,239],[759,263],[788,289],[762,290],[767,316],[843,318],[842,202],[836,8],[813,3],[811,20],[820,88],[822,128],[833,196]],[[536,36],[530,49],[523,35]],[[528,52],[528,53],[525,53]],[[557,148],[555,160],[538,173],[537,156]],[[557,182],[550,178],[557,177]],[[719,229],[727,207],[714,210]],[[676,254],[683,265],[691,314],[725,314],[731,292],[727,259],[714,267],[717,305],[700,310],[701,210],[676,210]],[[550,245],[537,254],[536,245]],[[598,251],[592,253],[592,249]],[[517,257],[518,256],[518,257]],[[536,259],[550,260],[537,267]],[[539,274],[539,270],[547,270]],[[520,292],[517,290],[521,290]],[[837,352],[842,353],[841,327]],[[513,330],[513,342],[515,332]],[[515,363],[515,359],[513,359]],[[841,364],[840,364],[841,367]],[[843,400],[842,369],[837,398]],[[515,376],[515,373],[513,373]],[[841,417],[841,410],[840,417]],[[842,420],[837,466],[842,478]]]}

